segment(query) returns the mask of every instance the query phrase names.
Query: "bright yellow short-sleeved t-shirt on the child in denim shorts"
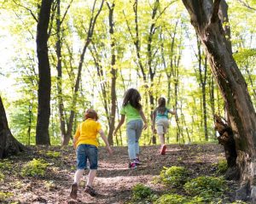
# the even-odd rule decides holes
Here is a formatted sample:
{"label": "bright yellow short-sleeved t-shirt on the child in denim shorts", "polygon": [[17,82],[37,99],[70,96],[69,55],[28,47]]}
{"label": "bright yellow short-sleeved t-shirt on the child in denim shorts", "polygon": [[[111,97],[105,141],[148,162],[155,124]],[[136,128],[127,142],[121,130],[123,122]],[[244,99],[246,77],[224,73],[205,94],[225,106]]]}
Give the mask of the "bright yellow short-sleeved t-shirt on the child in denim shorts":
{"label": "bright yellow short-sleeved t-shirt on the child in denim shorts", "polygon": [[101,129],[101,123],[96,122],[95,120],[90,118],[79,124],[77,131],[74,135],[74,139],[77,140],[76,147],[78,147],[79,144],[92,144],[98,147],[99,144],[96,136]]}

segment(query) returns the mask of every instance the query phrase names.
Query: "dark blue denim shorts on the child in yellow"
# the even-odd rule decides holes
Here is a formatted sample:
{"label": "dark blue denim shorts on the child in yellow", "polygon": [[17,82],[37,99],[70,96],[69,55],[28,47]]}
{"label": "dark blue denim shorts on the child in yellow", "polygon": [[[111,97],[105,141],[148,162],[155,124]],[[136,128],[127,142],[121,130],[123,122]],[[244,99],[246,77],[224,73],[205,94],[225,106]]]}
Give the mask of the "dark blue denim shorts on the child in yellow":
{"label": "dark blue denim shorts on the child in yellow", "polygon": [[87,159],[90,162],[90,169],[98,167],[98,148],[91,144],[79,144],[77,148],[77,169],[87,167]]}

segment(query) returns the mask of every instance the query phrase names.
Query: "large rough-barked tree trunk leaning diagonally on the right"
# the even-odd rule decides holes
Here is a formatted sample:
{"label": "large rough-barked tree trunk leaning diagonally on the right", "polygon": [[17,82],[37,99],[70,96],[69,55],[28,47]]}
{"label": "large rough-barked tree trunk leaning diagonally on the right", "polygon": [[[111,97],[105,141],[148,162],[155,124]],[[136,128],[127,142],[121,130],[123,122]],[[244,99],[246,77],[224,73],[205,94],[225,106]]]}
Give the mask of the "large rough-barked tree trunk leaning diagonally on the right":
{"label": "large rough-barked tree trunk leaning diagonally on the right", "polygon": [[205,47],[213,76],[223,95],[236,142],[236,163],[241,175],[237,199],[256,201],[256,114],[218,17],[221,0],[183,0],[191,23]]}

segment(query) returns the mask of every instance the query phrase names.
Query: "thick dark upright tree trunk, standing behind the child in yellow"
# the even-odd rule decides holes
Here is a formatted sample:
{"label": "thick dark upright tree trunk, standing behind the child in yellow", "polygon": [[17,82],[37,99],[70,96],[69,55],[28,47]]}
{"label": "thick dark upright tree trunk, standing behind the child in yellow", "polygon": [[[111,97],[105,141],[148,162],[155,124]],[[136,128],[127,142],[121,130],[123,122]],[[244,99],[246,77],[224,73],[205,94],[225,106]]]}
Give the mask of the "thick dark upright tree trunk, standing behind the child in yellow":
{"label": "thick dark upright tree trunk, standing behind the child in yellow", "polygon": [[37,28],[38,53],[38,122],[36,144],[50,144],[49,115],[50,115],[50,68],[48,56],[48,26],[52,0],[43,0],[40,8]]}

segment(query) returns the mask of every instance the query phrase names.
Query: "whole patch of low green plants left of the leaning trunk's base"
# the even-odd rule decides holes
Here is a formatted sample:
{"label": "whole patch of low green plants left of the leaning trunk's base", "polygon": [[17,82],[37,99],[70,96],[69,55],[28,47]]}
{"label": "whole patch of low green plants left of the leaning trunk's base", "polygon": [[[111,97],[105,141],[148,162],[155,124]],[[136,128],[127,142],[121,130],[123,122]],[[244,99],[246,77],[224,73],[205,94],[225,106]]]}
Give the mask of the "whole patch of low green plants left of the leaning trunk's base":
{"label": "whole patch of low green plants left of the leaning trunk's base", "polygon": [[[221,167],[222,164],[221,164]],[[163,194],[156,193],[148,186],[136,184],[132,188],[131,203],[138,204],[244,204],[242,201],[227,202],[224,193],[227,189],[223,177],[199,176],[189,178],[185,167],[163,167],[160,177],[153,184],[164,184]]]}

